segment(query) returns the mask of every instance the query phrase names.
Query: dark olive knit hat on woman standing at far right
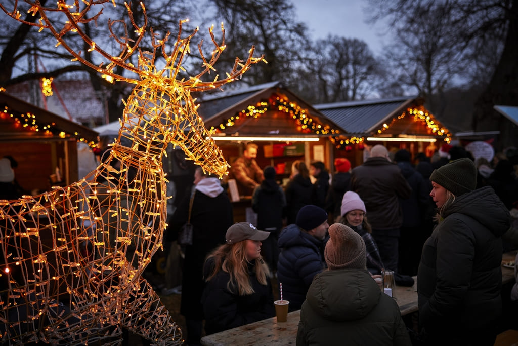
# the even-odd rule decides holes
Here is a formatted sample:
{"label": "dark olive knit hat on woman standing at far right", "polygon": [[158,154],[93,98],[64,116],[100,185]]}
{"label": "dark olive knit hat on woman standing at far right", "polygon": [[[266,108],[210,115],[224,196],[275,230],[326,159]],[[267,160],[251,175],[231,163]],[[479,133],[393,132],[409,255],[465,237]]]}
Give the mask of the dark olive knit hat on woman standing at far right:
{"label": "dark olive knit hat on woman standing at far right", "polygon": [[477,168],[470,159],[453,160],[432,172],[430,180],[461,196],[477,187]]}

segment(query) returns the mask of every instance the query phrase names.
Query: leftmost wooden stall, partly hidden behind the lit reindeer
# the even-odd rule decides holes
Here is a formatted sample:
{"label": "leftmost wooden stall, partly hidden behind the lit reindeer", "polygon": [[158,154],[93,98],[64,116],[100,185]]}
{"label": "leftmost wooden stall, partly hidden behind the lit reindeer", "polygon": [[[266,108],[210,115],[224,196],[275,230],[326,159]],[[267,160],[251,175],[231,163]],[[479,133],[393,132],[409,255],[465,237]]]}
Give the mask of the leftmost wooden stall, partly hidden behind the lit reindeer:
{"label": "leftmost wooden stall, partly hidden behind the lit reindeer", "polygon": [[[0,92],[0,157],[17,162],[15,177],[27,192],[78,179],[77,144],[97,143],[97,132]],[[61,178],[56,179],[56,167]]]}

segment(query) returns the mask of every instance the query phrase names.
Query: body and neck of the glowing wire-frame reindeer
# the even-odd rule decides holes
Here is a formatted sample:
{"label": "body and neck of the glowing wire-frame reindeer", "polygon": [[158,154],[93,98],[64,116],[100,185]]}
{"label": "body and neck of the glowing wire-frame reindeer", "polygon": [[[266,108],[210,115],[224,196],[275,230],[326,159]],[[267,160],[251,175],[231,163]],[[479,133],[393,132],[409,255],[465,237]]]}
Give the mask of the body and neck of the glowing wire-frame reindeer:
{"label": "body and neck of the glowing wire-frame reindeer", "polygon": [[[90,339],[108,334],[117,343],[120,326],[160,343],[181,341],[177,325],[140,278],[162,244],[166,187],[164,143],[144,140],[148,130],[142,132],[138,124],[162,129],[174,123],[167,112],[156,114],[161,108],[152,100],[135,99],[139,90],[128,99],[128,121],[119,135],[127,135],[135,122],[131,148],[117,141],[107,160],[80,182],[0,206],[1,254],[4,269],[9,268],[2,273],[7,289],[0,291],[1,306],[7,307],[0,310],[0,320],[8,326],[2,341],[82,344],[88,330]],[[135,105],[145,114],[131,113]],[[146,120],[150,116],[153,121]],[[162,135],[176,131],[165,129]],[[142,147],[145,151],[139,151]],[[9,215],[18,205],[21,210]],[[89,247],[91,255],[85,254]],[[25,314],[26,309],[31,312]]]}

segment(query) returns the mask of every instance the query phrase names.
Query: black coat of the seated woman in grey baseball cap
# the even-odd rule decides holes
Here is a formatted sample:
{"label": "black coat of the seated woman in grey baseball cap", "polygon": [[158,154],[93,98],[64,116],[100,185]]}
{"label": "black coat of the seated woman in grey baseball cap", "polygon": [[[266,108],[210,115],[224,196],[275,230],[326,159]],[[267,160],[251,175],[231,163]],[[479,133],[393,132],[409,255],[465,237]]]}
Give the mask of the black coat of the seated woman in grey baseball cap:
{"label": "black coat of the seated woman in grey baseball cap", "polygon": [[[213,266],[213,260],[205,264],[206,277],[212,272]],[[207,334],[261,321],[275,315],[270,280],[267,280],[267,285],[262,285],[257,280],[253,265],[248,264],[248,269],[250,283],[255,291],[251,295],[240,296],[235,293],[236,289],[228,290],[227,283],[230,275],[223,270],[207,282],[202,298]]]}

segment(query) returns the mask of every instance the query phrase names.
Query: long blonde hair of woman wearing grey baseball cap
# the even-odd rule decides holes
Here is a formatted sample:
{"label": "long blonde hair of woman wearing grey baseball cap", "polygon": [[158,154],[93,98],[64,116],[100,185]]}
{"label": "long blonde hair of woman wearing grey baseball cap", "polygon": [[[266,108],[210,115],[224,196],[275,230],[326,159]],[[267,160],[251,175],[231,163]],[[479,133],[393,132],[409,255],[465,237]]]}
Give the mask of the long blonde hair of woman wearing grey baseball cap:
{"label": "long blonde hair of woman wearing grey baseball cap", "polygon": [[[230,279],[227,282],[227,289],[229,291],[235,292],[237,290],[237,294],[240,296],[254,293],[255,291],[250,283],[248,273],[246,247],[246,241],[223,244],[217,247],[205,260],[214,259],[214,268],[205,281],[210,281],[220,270],[223,270],[230,275]],[[255,259],[253,264],[255,265],[257,281],[262,285],[267,285],[267,280],[270,278],[270,270],[263,258]]]}

